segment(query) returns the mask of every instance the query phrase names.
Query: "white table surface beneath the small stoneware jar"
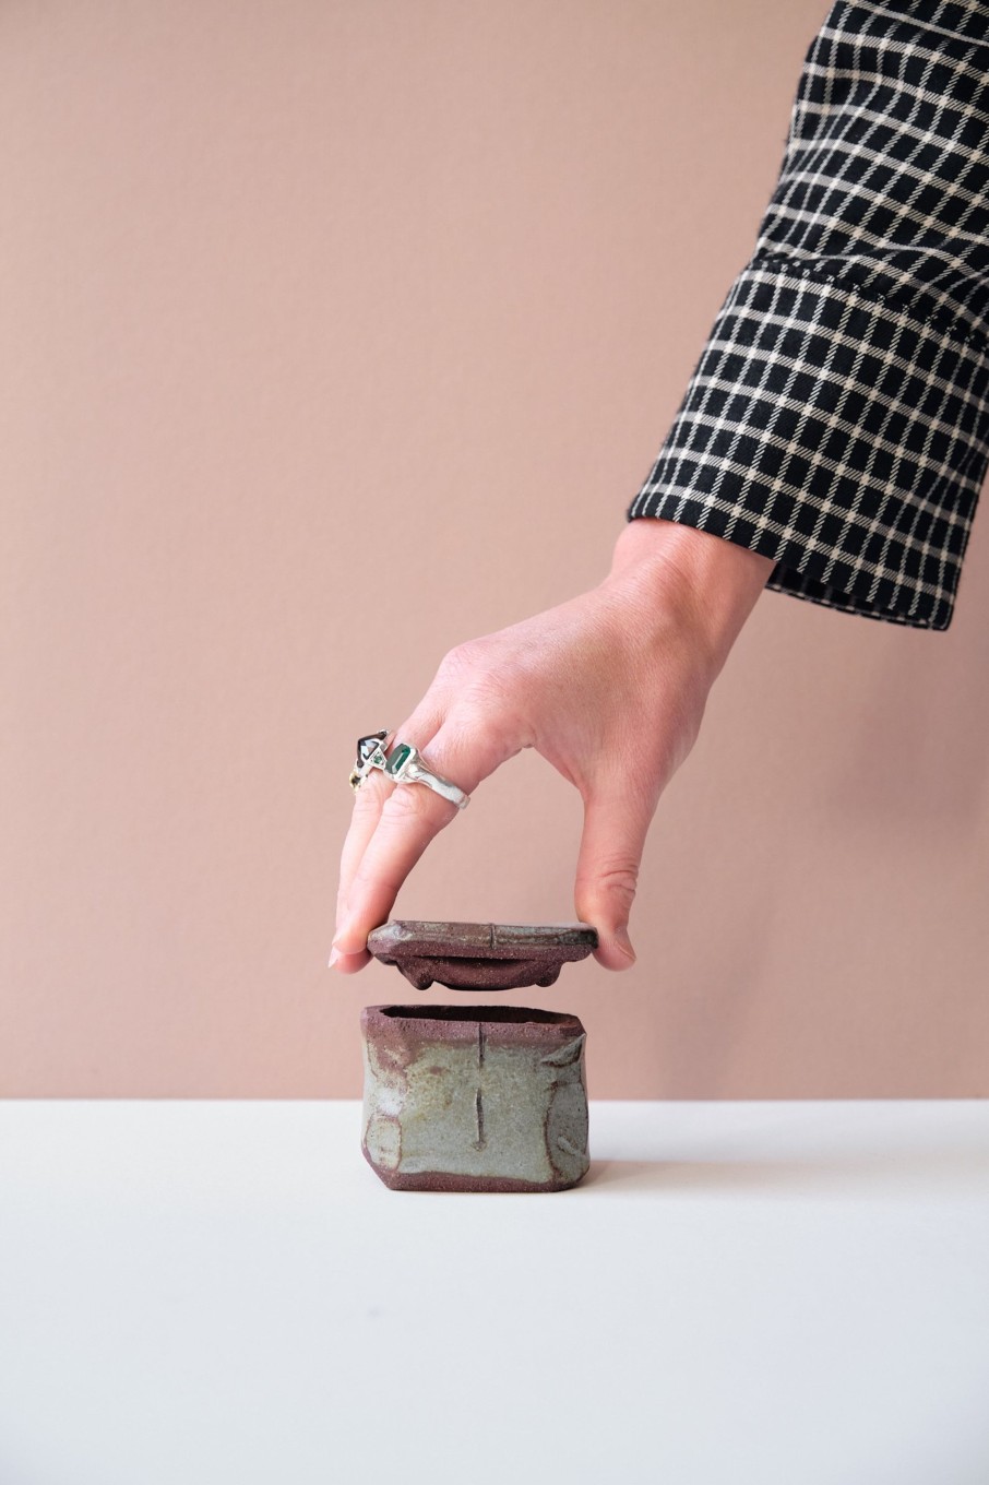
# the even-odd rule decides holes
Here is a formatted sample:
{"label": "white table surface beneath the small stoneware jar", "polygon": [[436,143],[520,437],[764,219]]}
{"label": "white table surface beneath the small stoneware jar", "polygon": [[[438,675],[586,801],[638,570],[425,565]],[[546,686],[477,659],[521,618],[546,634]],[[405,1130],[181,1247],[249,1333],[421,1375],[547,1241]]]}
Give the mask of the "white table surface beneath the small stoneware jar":
{"label": "white table surface beneath the small stoneware jar", "polygon": [[1,1485],[986,1485],[989,1103],[591,1154],[392,1192],[358,1103],[1,1105]]}

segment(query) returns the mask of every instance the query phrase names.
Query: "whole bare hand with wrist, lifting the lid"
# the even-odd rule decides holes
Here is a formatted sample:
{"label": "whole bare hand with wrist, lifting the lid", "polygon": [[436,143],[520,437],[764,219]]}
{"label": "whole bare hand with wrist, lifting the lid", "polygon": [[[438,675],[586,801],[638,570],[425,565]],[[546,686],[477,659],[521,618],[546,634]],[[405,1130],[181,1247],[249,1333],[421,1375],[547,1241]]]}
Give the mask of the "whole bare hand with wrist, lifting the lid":
{"label": "whole bare hand with wrist, lifting the lid", "polygon": [[[595,958],[634,964],[628,918],[659,794],[691,751],[708,691],[772,561],[671,521],[630,521],[609,576],[555,609],[450,650],[395,734],[472,793],[535,747],[579,789],[584,832],[575,907]],[[373,771],[340,863],[330,964],[367,964],[371,928],[456,805]]]}

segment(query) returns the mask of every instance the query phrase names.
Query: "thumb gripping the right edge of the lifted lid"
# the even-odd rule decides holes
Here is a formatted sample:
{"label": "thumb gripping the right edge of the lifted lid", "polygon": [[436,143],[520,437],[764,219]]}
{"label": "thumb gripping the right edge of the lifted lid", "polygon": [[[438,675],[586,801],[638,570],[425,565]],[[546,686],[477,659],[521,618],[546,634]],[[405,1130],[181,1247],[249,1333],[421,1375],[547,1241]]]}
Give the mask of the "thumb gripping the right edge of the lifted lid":
{"label": "thumb gripping the right edge of the lifted lid", "polygon": [[594,958],[607,970],[628,970],[636,962],[628,916],[652,814],[627,781],[598,787],[584,800],[573,904],[581,922],[597,928]]}

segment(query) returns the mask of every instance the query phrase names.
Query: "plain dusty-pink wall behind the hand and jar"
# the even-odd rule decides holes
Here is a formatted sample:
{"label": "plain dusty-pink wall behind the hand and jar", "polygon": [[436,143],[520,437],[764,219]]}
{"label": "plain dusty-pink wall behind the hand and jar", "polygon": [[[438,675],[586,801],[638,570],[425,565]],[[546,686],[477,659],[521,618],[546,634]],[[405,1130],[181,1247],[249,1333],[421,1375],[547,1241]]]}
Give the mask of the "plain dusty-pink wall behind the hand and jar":
{"label": "plain dusty-pink wall behind the hand and jar", "polygon": [[[358,1093],[353,738],[603,576],[826,10],[7,0],[4,1093]],[[532,996],[594,1096],[989,1091],[988,671],[989,515],[946,634],[760,598]],[[524,756],[398,912],[569,918],[579,823]]]}

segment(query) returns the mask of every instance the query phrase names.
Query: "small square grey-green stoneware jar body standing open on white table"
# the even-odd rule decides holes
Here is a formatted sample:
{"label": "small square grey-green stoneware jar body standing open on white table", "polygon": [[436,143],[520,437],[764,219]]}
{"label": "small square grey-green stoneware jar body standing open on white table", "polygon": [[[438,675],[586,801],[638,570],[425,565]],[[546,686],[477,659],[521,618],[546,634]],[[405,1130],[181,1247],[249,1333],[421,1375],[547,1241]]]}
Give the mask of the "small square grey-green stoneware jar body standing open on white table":
{"label": "small square grey-green stoneware jar body standing open on white table", "polygon": [[402,1191],[563,1191],[587,1173],[585,1032],[524,1005],[368,1005],[362,1149]]}

